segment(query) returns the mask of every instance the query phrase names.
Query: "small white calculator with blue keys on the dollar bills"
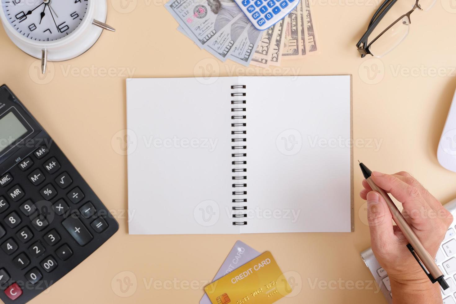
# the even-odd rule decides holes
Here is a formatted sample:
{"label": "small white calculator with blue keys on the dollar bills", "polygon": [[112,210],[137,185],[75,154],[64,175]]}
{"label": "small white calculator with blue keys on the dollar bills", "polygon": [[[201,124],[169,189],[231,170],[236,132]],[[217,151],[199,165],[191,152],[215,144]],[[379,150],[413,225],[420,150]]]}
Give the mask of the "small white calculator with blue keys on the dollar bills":
{"label": "small white calculator with blue keys on the dollar bills", "polygon": [[264,31],[282,20],[292,11],[299,0],[234,0],[250,22]]}

